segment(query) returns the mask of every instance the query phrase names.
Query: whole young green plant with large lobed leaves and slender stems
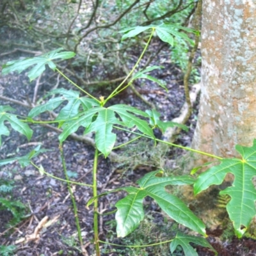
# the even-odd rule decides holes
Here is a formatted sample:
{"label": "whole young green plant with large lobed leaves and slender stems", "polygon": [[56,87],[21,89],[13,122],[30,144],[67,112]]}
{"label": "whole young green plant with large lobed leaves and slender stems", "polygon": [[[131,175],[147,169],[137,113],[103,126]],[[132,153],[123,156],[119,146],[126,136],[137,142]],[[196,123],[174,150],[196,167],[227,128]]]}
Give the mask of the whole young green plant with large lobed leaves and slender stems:
{"label": "whole young green plant with large lobed leaves and slender stems", "polygon": [[[205,239],[207,235],[205,234],[205,225],[202,220],[195,216],[195,214],[188,208],[188,206],[184,204],[182,200],[177,198],[177,196],[167,193],[164,189],[166,186],[180,186],[185,184],[191,184],[194,185],[194,191],[195,194],[197,194],[204,189],[209,188],[209,186],[211,186],[212,184],[220,184],[227,173],[233,173],[235,175],[235,180],[232,184],[232,187],[221,191],[221,193],[231,196],[231,200],[227,204],[227,211],[230,220],[232,220],[232,222],[234,223],[234,228],[238,237],[243,236],[246,228],[248,228],[250,221],[256,213],[254,206],[254,202],[256,200],[256,191],[252,184],[252,177],[256,173],[256,140],[254,141],[253,147],[251,148],[241,147],[237,145],[236,148],[237,151],[241,154],[241,159],[221,159],[221,157],[207,154],[205,152],[200,152],[191,148],[186,148],[179,145],[174,145],[172,143],[168,143],[166,141],[158,140],[154,136],[153,132],[153,130],[156,128],[160,129],[163,132],[166,130],[167,127],[177,126],[185,130],[187,128],[184,125],[175,124],[173,122],[162,122],[159,119],[160,113],[158,113],[155,109],[141,111],[140,109],[136,109],[125,104],[114,104],[112,106],[109,106],[108,108],[105,107],[105,104],[110,99],[112,99],[113,97],[115,97],[115,95],[122,92],[122,90],[131,85],[132,81],[134,81],[135,79],[150,79],[165,88],[164,84],[161,83],[161,81],[157,81],[157,79],[155,79],[154,77],[145,74],[159,67],[147,67],[144,70],[139,70],[134,74],[136,67],[138,67],[138,63],[140,63],[140,60],[143,57],[145,51],[147,50],[148,44],[150,43],[150,40],[155,33],[157,36],[159,36],[159,38],[161,38],[161,40],[167,42],[172,46],[174,42],[173,36],[176,36],[177,38],[182,38],[193,44],[193,42],[191,42],[191,40],[189,39],[188,35],[186,35],[186,33],[180,32],[180,29],[188,33],[197,33],[192,29],[183,28],[175,24],[161,24],[159,26],[139,26],[123,30],[123,40],[125,40],[125,38],[136,36],[139,33],[148,29],[151,31],[151,33],[148,38],[148,42],[145,45],[145,49],[141,53],[141,56],[138,59],[137,63],[134,65],[131,72],[127,75],[124,81],[122,81],[122,83],[120,83],[119,86],[117,86],[115,90],[113,90],[113,92],[111,92],[106,98],[100,97],[99,99],[97,99],[96,97],[93,97],[93,95],[80,88],[76,83],[68,79],[65,74],[58,70],[53,60],[65,60],[68,58],[72,58],[75,55],[74,52],[62,51],[63,49],[59,48],[55,51],[45,53],[42,56],[37,56],[35,58],[26,58],[25,60],[10,61],[3,66],[3,74],[8,74],[14,71],[22,72],[23,70],[26,70],[27,68],[33,66],[28,72],[29,79],[32,81],[33,79],[36,79],[36,77],[40,76],[40,74],[42,74],[42,72],[44,72],[45,70],[45,65],[48,65],[49,68],[59,72],[61,76],[65,77],[71,84],[78,88],[81,93],[83,93],[83,95],[80,95],[80,93],[77,91],[65,90],[63,88],[53,90],[45,95],[45,97],[58,95],[57,97],[53,97],[49,99],[45,104],[36,106],[35,108],[31,109],[28,116],[25,116],[24,118],[13,114],[13,111],[15,111],[15,109],[13,109],[12,107],[0,106],[0,138],[2,135],[9,136],[10,131],[6,126],[6,122],[8,122],[8,124],[10,124],[13,129],[20,132],[21,134],[24,134],[24,136],[26,136],[28,140],[30,140],[33,134],[33,130],[29,127],[28,124],[47,123],[40,121],[38,115],[40,115],[40,113],[44,113],[45,111],[52,111],[58,108],[63,102],[66,103],[66,105],[61,108],[55,120],[49,121],[48,123],[56,123],[58,124],[58,127],[62,129],[59,140],[63,172],[65,173],[66,177],[66,180],[64,181],[67,182],[70,197],[72,198],[79,243],[81,244],[81,250],[83,252],[83,239],[81,237],[81,228],[79,225],[79,219],[77,217],[77,207],[74,196],[72,195],[72,189],[70,188],[70,183],[72,182],[68,179],[65,158],[63,157],[62,145],[67,137],[73,132],[76,132],[79,127],[84,128],[84,134],[87,134],[89,132],[95,132],[93,180],[92,184],[83,185],[89,186],[93,190],[93,198],[88,202],[88,205],[93,204],[93,231],[95,234],[94,244],[97,256],[100,255],[100,243],[107,243],[106,241],[100,241],[99,239],[99,197],[104,196],[108,193],[114,193],[119,190],[126,191],[128,195],[119,202],[117,202],[115,205],[117,208],[115,220],[116,233],[118,237],[127,236],[133,230],[135,230],[138,225],[140,225],[141,220],[143,220],[144,218],[142,204],[143,198],[145,198],[145,196],[150,196],[151,198],[154,198],[159,207],[161,207],[161,209],[166,212],[166,214],[170,218],[201,235],[188,236],[186,234],[182,234],[181,232],[177,232],[176,236],[170,237],[169,241],[156,243],[170,243],[170,252],[174,252],[178,245],[182,246],[185,255],[189,256],[198,255],[192,248],[190,243],[200,244],[201,246],[209,247],[213,251],[214,249],[212,248],[211,244],[209,244]],[[136,132],[129,130],[134,127],[137,128]],[[109,154],[111,154],[112,150],[115,149],[115,129],[121,129],[123,131],[129,131],[133,134],[136,134],[137,137],[135,140],[140,139],[141,137],[148,138],[150,140],[153,140],[155,143],[166,143],[170,146],[180,147],[184,148],[185,150],[190,150],[192,152],[198,152],[200,154],[214,157],[215,159],[218,159],[218,161],[220,161],[221,163],[218,166],[209,168],[209,170],[207,170],[205,173],[198,175],[197,178],[193,178],[189,175],[166,177],[163,170],[156,170],[154,172],[147,173],[144,177],[141,177],[141,179],[137,181],[139,185],[138,187],[129,186],[124,188],[118,188],[113,191],[109,191],[108,193],[98,195],[97,162],[99,154],[103,154],[105,157],[108,157]],[[132,139],[132,141],[134,141],[134,139]],[[124,145],[127,145],[127,143],[124,143]],[[118,147],[120,147],[120,145]],[[35,148],[35,150],[29,152],[26,156],[4,159],[0,161],[0,165],[12,163],[13,161],[19,161],[21,166],[27,166],[28,164],[32,164],[33,166],[38,168],[40,172],[45,173],[42,168],[36,166],[32,161],[33,157],[38,156],[38,154],[42,152],[45,152],[45,149],[40,149],[40,147],[37,147]],[[196,170],[198,170],[198,168],[194,169],[192,174],[195,174]],[[162,175],[162,177],[159,177],[159,173]],[[7,205],[8,202],[4,202],[2,198],[0,203]],[[13,205],[12,203],[9,204],[10,205],[7,205],[7,207],[11,210]],[[156,244],[148,244],[147,246]],[[115,246],[115,244],[111,245]],[[119,244],[116,245],[120,246]],[[143,246],[145,246],[145,244],[141,245],[141,247]],[[138,247],[140,246],[136,246],[136,248]]]}

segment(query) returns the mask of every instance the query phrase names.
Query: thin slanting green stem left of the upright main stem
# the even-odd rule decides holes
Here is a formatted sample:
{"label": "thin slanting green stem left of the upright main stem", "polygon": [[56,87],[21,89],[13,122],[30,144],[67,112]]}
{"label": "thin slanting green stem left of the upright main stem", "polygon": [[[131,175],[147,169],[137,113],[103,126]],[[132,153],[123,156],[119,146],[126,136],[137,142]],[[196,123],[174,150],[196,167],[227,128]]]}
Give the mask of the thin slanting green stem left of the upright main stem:
{"label": "thin slanting green stem left of the upright main stem", "polygon": [[[68,173],[67,173],[67,166],[66,166],[66,162],[65,162],[65,157],[64,157],[64,154],[63,154],[63,147],[62,147],[61,143],[60,143],[59,148],[60,148],[60,156],[61,156],[63,171],[64,171],[64,174],[65,174],[66,180],[69,180]],[[72,200],[72,204],[73,204],[73,208],[74,208],[74,215],[75,215],[75,220],[76,220],[76,228],[77,228],[78,239],[79,239],[79,242],[80,242],[81,250],[83,252],[83,238],[82,238],[81,227],[80,227],[79,219],[78,219],[78,211],[77,211],[76,200],[75,200],[75,197],[74,197],[74,194],[73,194],[73,191],[70,187],[69,182],[67,182],[67,187],[68,187],[68,192],[70,194],[70,198]]]}

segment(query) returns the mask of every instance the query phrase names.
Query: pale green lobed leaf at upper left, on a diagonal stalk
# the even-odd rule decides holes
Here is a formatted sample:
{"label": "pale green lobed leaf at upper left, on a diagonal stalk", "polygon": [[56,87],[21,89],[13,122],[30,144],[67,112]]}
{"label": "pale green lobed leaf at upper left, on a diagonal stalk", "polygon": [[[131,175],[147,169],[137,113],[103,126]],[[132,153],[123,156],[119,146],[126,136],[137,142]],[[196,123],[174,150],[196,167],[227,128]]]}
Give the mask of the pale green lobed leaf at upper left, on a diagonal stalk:
{"label": "pale green lobed leaf at upper left, on a diagonal stalk", "polygon": [[13,71],[18,71],[20,73],[23,70],[26,70],[28,67],[35,65],[28,72],[28,77],[30,81],[32,81],[44,72],[45,65],[48,65],[52,70],[56,69],[56,65],[52,62],[52,60],[55,60],[55,59],[66,60],[76,55],[74,52],[60,52],[61,50],[63,50],[63,48],[58,48],[54,51],[47,52],[42,56],[37,56],[34,58],[8,61],[6,65],[3,65],[2,74],[8,74]]}

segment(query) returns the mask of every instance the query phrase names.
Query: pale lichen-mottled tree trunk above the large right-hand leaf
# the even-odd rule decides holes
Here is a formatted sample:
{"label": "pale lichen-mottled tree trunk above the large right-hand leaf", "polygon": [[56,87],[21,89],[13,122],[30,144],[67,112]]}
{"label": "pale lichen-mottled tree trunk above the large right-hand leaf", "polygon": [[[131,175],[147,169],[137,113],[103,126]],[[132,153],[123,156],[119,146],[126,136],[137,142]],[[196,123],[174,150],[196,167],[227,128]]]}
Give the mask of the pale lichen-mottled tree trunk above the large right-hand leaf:
{"label": "pale lichen-mottled tree trunk above the large right-hand leaf", "polygon": [[233,157],[236,144],[250,146],[256,138],[256,1],[204,0],[202,12],[202,90],[192,147]]}

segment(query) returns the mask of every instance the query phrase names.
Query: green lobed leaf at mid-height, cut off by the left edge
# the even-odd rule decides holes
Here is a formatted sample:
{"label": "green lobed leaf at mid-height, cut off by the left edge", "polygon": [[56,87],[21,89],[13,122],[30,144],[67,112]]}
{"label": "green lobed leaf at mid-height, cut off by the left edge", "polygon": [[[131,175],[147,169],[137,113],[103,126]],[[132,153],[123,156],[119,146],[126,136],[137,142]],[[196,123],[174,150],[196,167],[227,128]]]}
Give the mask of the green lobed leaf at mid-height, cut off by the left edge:
{"label": "green lobed leaf at mid-height, cut off by the left edge", "polygon": [[8,128],[4,125],[4,121],[8,121],[15,131],[24,134],[30,140],[33,131],[29,128],[28,124],[20,121],[17,115],[7,113],[7,111],[15,111],[15,109],[10,106],[0,106],[0,145],[1,135],[8,136],[10,134]]}

